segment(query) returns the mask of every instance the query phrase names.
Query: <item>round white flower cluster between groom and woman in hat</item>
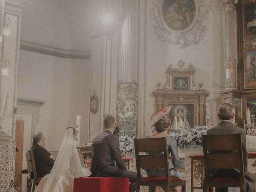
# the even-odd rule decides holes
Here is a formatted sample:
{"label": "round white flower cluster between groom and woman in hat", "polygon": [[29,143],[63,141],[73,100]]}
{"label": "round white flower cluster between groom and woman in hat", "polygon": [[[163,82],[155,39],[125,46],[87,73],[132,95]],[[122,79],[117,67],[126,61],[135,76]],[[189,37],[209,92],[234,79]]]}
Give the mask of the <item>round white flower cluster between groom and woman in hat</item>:
{"label": "round white flower cluster between groom and woman in hat", "polygon": [[123,157],[129,156],[129,153],[134,151],[134,141],[132,138],[126,136],[119,136],[120,152]]}

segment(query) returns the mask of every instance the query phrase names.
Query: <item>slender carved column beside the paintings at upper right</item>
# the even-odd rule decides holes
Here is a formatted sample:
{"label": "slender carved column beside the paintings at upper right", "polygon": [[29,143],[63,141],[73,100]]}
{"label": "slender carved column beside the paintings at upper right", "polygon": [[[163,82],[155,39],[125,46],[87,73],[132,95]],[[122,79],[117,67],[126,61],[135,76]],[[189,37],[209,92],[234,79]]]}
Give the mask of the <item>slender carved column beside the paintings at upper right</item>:
{"label": "slender carved column beside the paintings at upper right", "polygon": [[225,9],[225,37],[226,37],[226,59],[225,59],[225,89],[237,88],[237,67],[236,67],[236,32],[237,0],[223,0]]}

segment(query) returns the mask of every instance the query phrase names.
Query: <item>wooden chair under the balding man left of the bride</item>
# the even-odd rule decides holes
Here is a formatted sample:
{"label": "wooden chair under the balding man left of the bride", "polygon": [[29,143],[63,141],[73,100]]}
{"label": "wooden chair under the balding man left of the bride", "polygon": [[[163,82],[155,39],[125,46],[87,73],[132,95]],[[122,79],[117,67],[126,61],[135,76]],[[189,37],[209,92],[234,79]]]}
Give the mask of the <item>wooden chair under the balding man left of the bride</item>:
{"label": "wooden chair under the balding man left of the bride", "polygon": [[28,164],[29,164],[29,175],[30,175],[30,185],[28,188],[28,192],[34,192],[36,185],[40,182],[42,177],[38,177],[36,173],[36,163],[35,163],[35,158],[34,158],[34,151],[33,150],[28,150]]}

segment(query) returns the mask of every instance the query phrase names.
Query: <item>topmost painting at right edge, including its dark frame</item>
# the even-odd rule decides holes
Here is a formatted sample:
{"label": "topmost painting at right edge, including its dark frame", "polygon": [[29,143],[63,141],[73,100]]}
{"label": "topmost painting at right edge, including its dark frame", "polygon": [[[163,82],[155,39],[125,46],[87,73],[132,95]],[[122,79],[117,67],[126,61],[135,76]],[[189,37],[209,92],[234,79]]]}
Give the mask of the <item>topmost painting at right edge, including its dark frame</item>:
{"label": "topmost painting at right edge, including its dark frame", "polygon": [[256,2],[243,2],[243,34],[244,40],[256,37]]}

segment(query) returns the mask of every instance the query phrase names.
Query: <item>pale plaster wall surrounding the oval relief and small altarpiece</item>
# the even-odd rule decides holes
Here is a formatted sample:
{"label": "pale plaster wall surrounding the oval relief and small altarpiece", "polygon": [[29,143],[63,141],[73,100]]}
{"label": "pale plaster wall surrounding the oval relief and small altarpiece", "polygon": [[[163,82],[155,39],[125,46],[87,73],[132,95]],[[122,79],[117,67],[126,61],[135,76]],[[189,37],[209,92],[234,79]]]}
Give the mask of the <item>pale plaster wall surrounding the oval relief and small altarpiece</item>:
{"label": "pale plaster wall surrounding the oval relief and small altarpiece", "polygon": [[154,112],[155,102],[152,92],[157,89],[156,84],[164,85],[166,69],[170,64],[173,68],[178,68],[180,59],[186,63],[184,67],[188,67],[188,64],[194,65],[196,84],[204,82],[204,88],[210,92],[207,100],[210,104],[211,124],[216,124],[216,107],[220,104],[218,91],[224,89],[225,80],[222,1],[204,0],[208,9],[207,18],[204,20],[204,35],[197,44],[182,49],[178,45],[158,40],[154,34],[155,21],[149,13],[153,2],[154,0],[146,1],[146,135],[152,132],[150,117]]}

